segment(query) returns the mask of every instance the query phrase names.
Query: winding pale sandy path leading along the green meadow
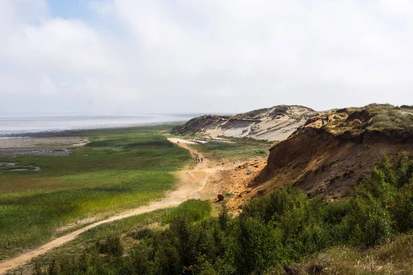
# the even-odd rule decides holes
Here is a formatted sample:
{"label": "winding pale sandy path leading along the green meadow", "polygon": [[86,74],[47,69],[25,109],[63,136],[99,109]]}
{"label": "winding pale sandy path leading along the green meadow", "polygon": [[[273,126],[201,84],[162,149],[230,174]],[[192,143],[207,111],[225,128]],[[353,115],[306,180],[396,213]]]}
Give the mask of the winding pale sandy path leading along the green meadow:
{"label": "winding pale sandy path leading along the green meadow", "polygon": [[[203,157],[201,153],[193,150],[190,148],[185,140],[180,139],[168,139],[170,142],[176,143],[178,140],[180,143],[178,144],[182,148],[187,148],[193,155],[198,155],[199,157]],[[195,156],[194,156],[195,157]],[[195,161],[195,159],[194,159]],[[39,248],[35,248],[34,250],[29,250],[28,252],[24,252],[19,256],[8,259],[6,261],[0,262],[0,274],[4,274],[8,270],[14,270],[15,268],[27,263],[31,259],[44,254],[45,252],[52,250],[53,248],[57,248],[68,241],[72,241],[76,238],[79,234],[91,229],[95,228],[98,225],[103,223],[110,223],[111,221],[116,221],[118,219],[124,219],[127,217],[134,216],[136,214],[142,214],[145,212],[151,212],[153,210],[161,209],[161,208],[168,208],[171,206],[177,206],[178,204],[186,201],[187,199],[195,199],[200,197],[200,191],[204,188],[205,184],[213,173],[217,171],[216,167],[213,167],[209,164],[208,159],[204,159],[204,162],[198,163],[194,168],[191,169],[184,169],[180,170],[176,173],[179,179],[179,184],[176,187],[176,190],[171,190],[167,192],[165,199],[160,199],[159,201],[153,201],[149,203],[148,206],[142,206],[140,208],[136,208],[134,210],[129,210],[127,212],[123,212],[116,216],[110,217],[108,219],[104,219],[102,221],[98,221],[96,223],[92,223],[90,225],[85,226],[79,230],[61,236],[49,243],[45,243],[41,245]]]}

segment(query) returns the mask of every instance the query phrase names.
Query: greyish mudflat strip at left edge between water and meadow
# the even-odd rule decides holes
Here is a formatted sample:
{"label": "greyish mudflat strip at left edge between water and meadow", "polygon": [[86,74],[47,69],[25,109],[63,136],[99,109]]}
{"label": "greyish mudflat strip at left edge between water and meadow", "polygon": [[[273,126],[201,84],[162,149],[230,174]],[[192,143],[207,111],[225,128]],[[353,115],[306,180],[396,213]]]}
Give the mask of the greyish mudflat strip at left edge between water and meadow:
{"label": "greyish mudflat strip at left edge between water and meadow", "polygon": [[[67,147],[83,146],[83,137],[8,137],[0,138],[0,157],[26,155],[69,155]],[[39,144],[70,144],[70,146],[41,146]]]}

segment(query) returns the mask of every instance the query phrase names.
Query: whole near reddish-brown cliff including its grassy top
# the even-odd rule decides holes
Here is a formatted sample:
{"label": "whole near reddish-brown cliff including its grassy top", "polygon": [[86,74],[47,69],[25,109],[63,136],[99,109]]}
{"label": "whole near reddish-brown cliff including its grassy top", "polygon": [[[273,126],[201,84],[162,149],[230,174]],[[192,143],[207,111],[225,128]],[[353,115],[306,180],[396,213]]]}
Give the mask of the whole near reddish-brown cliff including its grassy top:
{"label": "whole near reddish-brown cliff including its grassy top", "polygon": [[246,199],[286,185],[298,186],[308,197],[341,199],[383,155],[394,160],[401,150],[413,153],[412,107],[371,104],[328,111],[271,148]]}

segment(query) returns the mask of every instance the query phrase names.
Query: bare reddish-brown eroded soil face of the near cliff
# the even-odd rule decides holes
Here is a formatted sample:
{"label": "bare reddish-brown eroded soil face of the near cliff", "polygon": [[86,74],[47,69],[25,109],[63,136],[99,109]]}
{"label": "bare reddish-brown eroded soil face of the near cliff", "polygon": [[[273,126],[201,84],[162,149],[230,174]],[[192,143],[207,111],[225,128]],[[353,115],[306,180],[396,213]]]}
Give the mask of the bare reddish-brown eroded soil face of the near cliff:
{"label": "bare reddish-brown eroded soil face of the near cliff", "polygon": [[271,148],[268,164],[249,185],[253,190],[246,199],[286,185],[301,188],[309,198],[342,199],[384,155],[394,159],[401,150],[413,153],[413,143],[396,135],[383,131],[350,137],[327,131],[314,120]]}

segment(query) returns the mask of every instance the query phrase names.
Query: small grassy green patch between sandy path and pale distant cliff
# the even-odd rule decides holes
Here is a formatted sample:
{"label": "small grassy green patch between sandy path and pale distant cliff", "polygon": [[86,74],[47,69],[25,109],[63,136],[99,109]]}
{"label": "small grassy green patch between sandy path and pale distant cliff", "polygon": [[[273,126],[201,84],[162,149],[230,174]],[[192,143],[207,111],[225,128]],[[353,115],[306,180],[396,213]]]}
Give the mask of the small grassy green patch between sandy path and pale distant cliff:
{"label": "small grassy green patch between sandy path and pale distant cliff", "polygon": [[234,143],[208,142],[193,147],[204,153],[205,157],[218,161],[227,160],[230,162],[266,156],[271,147],[271,142],[266,142],[264,140],[237,137],[225,137],[225,139]]}

